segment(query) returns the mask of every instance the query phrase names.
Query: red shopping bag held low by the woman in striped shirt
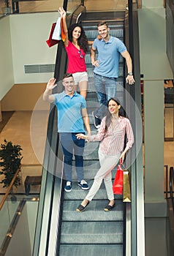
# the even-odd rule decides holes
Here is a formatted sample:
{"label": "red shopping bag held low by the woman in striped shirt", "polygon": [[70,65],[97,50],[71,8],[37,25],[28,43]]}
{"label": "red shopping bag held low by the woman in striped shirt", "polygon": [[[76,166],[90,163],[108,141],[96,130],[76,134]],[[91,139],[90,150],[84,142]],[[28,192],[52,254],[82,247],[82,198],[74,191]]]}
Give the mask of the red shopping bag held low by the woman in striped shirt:
{"label": "red shopping bag held low by the woman in striped shirt", "polygon": [[121,168],[121,162],[116,170],[116,177],[113,181],[113,194],[122,195],[124,185],[124,170]]}

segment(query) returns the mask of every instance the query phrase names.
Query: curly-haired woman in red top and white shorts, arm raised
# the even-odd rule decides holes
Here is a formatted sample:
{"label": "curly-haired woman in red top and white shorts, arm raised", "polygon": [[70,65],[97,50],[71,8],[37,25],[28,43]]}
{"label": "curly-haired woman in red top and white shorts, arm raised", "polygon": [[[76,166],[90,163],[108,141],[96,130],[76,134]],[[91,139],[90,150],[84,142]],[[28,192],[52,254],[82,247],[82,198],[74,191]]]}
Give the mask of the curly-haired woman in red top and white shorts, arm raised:
{"label": "curly-haired woman in red top and white shorts, arm raised", "polygon": [[85,56],[88,51],[88,45],[91,45],[92,42],[88,41],[85,31],[79,23],[72,24],[68,31],[64,8],[59,7],[58,12],[61,18],[63,18],[64,34],[66,35],[64,46],[68,56],[67,73],[73,75],[75,91],[77,91],[77,86],[79,86],[80,94],[86,99],[88,75]]}

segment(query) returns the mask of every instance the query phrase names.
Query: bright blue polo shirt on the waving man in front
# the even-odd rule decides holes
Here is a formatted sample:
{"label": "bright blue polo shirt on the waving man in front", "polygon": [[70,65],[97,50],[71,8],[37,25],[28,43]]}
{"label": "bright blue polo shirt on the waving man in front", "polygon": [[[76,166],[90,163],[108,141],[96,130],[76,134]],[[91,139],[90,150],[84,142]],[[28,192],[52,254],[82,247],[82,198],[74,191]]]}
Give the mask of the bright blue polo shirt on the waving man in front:
{"label": "bright blue polo shirt on the waving man in front", "polygon": [[58,132],[85,132],[81,109],[86,108],[86,100],[75,92],[72,97],[65,94],[53,94],[58,111]]}

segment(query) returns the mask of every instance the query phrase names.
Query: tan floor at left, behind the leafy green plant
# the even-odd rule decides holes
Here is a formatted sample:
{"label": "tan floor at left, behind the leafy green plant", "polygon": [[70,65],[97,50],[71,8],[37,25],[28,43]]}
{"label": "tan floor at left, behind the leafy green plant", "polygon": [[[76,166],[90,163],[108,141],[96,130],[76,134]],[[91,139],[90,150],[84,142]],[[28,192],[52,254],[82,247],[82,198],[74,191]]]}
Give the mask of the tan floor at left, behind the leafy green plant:
{"label": "tan floor at left, behind the leafy green plant", "polygon": [[[7,116],[9,116],[8,113]],[[4,118],[4,122],[7,123],[0,132],[0,143],[6,139],[23,148],[22,172],[20,174],[22,186],[18,187],[18,192],[24,192],[26,176],[42,174],[48,111],[17,111],[12,114],[9,121]],[[31,192],[37,191],[38,188],[38,186],[32,186]],[[6,189],[3,189],[2,184],[0,184],[0,192],[4,191]]]}

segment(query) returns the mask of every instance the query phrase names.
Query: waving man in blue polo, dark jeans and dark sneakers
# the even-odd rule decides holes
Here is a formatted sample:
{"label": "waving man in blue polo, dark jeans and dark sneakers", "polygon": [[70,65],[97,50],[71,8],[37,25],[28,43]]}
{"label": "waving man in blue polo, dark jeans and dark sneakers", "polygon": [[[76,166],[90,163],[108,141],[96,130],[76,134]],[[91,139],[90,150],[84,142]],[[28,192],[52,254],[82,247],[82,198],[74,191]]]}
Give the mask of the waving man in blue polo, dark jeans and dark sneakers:
{"label": "waving man in blue polo, dark jeans and dark sneakers", "polygon": [[83,189],[88,189],[88,184],[83,179],[83,151],[85,140],[78,140],[77,133],[85,133],[83,122],[88,134],[91,133],[88,113],[86,110],[86,100],[74,91],[74,78],[72,74],[64,75],[64,91],[60,94],[52,94],[52,89],[56,87],[56,79],[50,78],[43,94],[43,99],[53,102],[58,110],[58,133],[61,146],[64,152],[64,172],[66,176],[66,186],[64,190],[72,190],[72,157],[75,154],[75,168],[77,172],[78,185]]}

